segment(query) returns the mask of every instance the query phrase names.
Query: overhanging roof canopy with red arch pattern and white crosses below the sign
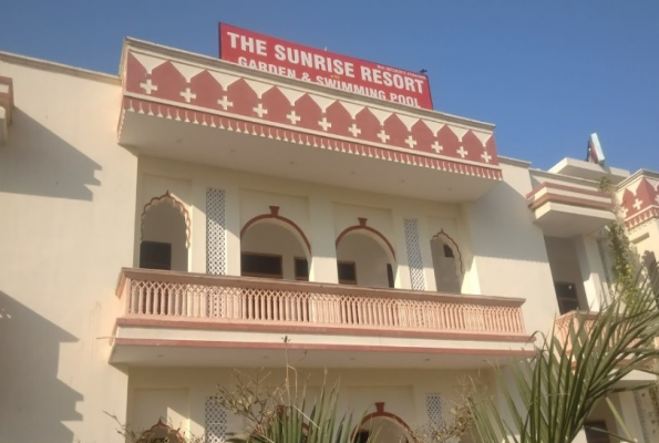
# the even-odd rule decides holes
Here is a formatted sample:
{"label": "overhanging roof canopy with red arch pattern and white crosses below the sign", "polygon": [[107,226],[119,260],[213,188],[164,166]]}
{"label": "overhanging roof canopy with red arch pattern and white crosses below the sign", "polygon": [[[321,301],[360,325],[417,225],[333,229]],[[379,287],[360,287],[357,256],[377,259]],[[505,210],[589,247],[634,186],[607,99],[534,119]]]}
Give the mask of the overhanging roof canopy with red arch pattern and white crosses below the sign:
{"label": "overhanging roof canopy with red arch pattern and white crosses below the sign", "polygon": [[443,202],[502,181],[488,123],[133,39],[121,76],[117,138],[138,155]]}

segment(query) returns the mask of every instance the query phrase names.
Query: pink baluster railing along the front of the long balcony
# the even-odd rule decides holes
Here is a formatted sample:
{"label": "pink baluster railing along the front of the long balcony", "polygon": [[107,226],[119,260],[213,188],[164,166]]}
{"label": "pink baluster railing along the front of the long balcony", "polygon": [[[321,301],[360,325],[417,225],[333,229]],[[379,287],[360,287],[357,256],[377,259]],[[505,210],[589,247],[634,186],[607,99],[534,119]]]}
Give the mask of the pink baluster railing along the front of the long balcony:
{"label": "pink baluster railing along the front of the long balcony", "polygon": [[[249,280],[209,277],[216,284],[132,279],[127,312],[140,317],[209,318],[218,321],[363,326],[388,329],[522,333],[517,306],[436,297],[395,298],[356,289],[298,290]],[[235,286],[234,286],[235,285]],[[321,292],[322,290],[322,292]],[[414,295],[415,296],[415,295]]]}

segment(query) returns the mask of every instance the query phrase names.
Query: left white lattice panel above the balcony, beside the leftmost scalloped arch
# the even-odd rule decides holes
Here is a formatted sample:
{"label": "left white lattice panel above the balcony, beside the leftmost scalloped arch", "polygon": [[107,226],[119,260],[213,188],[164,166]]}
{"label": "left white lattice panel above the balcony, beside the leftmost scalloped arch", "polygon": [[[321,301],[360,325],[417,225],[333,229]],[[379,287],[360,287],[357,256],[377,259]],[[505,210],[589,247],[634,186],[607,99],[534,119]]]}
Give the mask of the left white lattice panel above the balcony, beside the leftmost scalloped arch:
{"label": "left white lattice panel above the balcony, beside the leftmost scalloped arch", "polygon": [[226,196],[222,189],[206,190],[206,272],[227,272]]}

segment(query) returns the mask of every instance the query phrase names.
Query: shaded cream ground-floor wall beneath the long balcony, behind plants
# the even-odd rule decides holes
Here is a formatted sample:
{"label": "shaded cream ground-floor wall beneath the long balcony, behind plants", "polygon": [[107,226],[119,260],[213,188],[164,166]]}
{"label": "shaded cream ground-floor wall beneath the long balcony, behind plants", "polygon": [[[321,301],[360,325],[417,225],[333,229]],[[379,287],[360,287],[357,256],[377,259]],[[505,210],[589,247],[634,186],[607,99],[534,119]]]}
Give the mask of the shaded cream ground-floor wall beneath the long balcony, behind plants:
{"label": "shaded cream ground-floor wall beneath the long balcony, behind plants", "polygon": [[[206,441],[216,441],[220,433],[224,437],[245,435],[249,422],[213,401],[222,394],[218,385],[235,388],[238,384],[238,373],[244,380],[264,378],[264,392],[282,387],[286,380],[284,370],[132,369],[127,411],[131,429],[146,430],[162,420],[181,429],[182,433],[206,434]],[[398,422],[413,432],[426,432],[451,420],[451,410],[466,392],[468,377],[481,377],[477,370],[374,369],[329,370],[327,373],[291,370],[288,375],[294,391],[307,383],[309,408],[310,400],[320,393],[323,380],[328,388],[339,383],[338,416],[351,413],[356,430],[362,418],[371,414]],[[388,441],[384,435],[381,439]]]}

